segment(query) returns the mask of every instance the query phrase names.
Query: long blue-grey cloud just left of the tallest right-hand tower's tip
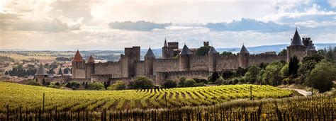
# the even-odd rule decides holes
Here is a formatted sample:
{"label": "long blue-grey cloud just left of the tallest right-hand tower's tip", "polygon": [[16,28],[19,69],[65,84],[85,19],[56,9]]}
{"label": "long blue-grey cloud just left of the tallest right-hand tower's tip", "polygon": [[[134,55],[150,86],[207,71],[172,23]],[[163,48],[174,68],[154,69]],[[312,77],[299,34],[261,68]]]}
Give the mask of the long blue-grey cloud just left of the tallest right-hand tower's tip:
{"label": "long blue-grey cloud just left of the tallest right-hand tower's tip", "polygon": [[290,25],[281,25],[274,22],[264,23],[255,19],[242,18],[240,21],[231,23],[207,23],[206,28],[213,31],[245,31],[254,30],[257,32],[272,33],[291,30]]}

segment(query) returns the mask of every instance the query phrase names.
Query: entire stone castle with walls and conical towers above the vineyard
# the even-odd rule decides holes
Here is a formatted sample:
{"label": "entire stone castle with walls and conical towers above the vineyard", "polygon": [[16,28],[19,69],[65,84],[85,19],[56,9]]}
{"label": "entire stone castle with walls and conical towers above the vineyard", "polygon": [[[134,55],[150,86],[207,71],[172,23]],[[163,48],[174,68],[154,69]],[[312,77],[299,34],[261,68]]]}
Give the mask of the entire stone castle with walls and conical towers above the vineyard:
{"label": "entire stone castle with walls and conical towers above the vineyard", "polygon": [[[208,46],[208,42],[204,42],[203,45]],[[197,56],[196,50],[189,49],[187,45],[179,49],[178,42],[164,40],[162,58],[157,58],[149,48],[145,59],[140,60],[140,47],[126,47],[125,54],[121,54],[118,62],[104,63],[95,63],[92,56],[84,60],[77,50],[72,60],[72,76],[69,81],[113,83],[121,80],[128,83],[136,76],[147,76],[155,81],[155,84],[161,84],[166,80],[178,80],[181,76],[187,79],[206,79],[214,71],[235,70],[238,67],[247,68],[251,65],[259,66],[262,63],[280,60],[289,62],[293,56],[302,60],[303,57],[317,53],[312,40],[310,38],[301,40],[297,30],[291,39],[291,44],[287,47],[286,55],[277,55],[275,52],[250,54],[244,45],[237,55],[231,56],[220,55],[214,47],[211,47],[208,54],[204,56]],[[39,81],[45,79],[43,71],[38,71],[36,74]]]}

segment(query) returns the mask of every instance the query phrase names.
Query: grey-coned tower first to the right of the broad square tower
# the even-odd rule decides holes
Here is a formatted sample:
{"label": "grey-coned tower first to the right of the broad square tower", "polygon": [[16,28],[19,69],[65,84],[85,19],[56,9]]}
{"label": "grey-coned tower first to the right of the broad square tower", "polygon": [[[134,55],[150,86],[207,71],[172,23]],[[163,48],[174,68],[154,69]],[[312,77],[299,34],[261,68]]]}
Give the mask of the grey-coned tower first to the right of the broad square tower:
{"label": "grey-coned tower first to the right of the broad square tower", "polygon": [[148,49],[145,55],[145,75],[153,75],[153,63],[155,59],[155,54],[152,49]]}

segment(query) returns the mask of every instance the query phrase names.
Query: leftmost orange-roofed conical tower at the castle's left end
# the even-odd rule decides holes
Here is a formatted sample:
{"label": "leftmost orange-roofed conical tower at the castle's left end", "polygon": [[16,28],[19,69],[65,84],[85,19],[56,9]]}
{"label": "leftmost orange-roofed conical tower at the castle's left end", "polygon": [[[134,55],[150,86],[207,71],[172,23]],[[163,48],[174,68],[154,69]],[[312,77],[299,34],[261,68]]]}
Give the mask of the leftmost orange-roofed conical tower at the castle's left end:
{"label": "leftmost orange-roofed conical tower at the castle's left end", "polygon": [[74,59],[72,59],[72,79],[85,79],[85,61],[82,55],[77,50],[74,54]]}

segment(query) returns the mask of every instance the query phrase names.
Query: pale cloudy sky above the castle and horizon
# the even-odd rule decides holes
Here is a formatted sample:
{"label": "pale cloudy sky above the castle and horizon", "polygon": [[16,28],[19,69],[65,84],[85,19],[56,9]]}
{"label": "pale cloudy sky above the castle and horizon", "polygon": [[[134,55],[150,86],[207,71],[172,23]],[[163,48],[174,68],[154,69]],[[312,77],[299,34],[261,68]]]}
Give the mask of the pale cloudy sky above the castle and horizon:
{"label": "pale cloudy sky above the castle and horizon", "polygon": [[336,42],[336,0],[1,0],[0,49],[161,48]]}

